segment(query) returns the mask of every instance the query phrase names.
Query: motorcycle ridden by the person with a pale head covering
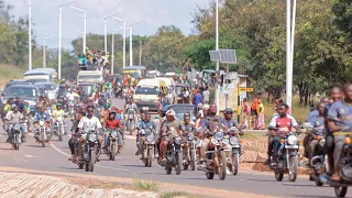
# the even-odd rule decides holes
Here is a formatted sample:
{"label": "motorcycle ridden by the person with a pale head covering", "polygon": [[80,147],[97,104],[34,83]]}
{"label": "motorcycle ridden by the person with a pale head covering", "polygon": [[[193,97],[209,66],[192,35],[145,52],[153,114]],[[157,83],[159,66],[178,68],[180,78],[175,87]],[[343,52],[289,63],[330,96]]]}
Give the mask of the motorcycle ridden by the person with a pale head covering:
{"label": "motorcycle ridden by the person with a pale head covering", "polygon": [[169,175],[172,174],[174,167],[176,175],[180,175],[183,167],[183,139],[178,136],[175,128],[170,128],[168,130],[168,134],[165,170],[166,174]]}

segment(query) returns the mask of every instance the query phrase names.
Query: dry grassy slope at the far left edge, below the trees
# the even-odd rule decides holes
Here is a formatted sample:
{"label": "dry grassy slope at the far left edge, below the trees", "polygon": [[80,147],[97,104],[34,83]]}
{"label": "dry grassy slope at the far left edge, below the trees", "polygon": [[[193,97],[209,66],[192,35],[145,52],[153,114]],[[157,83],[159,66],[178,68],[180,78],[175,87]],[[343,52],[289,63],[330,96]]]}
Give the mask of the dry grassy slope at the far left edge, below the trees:
{"label": "dry grassy slope at the far left edge, below the trees", "polygon": [[24,67],[0,64],[0,87],[4,87],[11,79],[21,79],[26,70]]}

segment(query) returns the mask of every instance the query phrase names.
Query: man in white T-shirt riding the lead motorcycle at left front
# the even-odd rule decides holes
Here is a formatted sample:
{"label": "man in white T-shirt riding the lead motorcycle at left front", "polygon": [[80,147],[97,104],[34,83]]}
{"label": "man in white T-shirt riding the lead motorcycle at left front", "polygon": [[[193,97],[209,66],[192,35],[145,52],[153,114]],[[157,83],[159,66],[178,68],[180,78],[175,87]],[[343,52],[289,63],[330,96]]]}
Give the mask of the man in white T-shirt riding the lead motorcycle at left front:
{"label": "man in white T-shirt riding the lead motorcycle at left front", "polygon": [[[81,118],[78,123],[79,133],[87,133],[88,129],[86,129],[86,127],[94,127],[96,130],[98,130],[97,131],[98,134],[99,133],[102,134],[101,123],[100,123],[99,119],[94,116],[94,112],[95,112],[94,107],[88,106],[87,107],[88,116]],[[82,132],[82,130],[85,130],[85,131]],[[99,135],[99,138],[98,138],[98,152],[97,152],[97,161],[98,162],[100,161],[100,158],[99,158],[100,150],[101,150],[101,136]]]}

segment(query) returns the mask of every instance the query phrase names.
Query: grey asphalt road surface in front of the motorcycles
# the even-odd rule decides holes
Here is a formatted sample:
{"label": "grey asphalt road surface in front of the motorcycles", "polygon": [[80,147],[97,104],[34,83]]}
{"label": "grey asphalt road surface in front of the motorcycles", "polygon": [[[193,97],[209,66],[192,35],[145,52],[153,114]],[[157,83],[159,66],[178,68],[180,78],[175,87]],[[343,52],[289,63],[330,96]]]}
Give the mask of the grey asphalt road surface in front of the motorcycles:
{"label": "grey asphalt road surface in front of the motorcycles", "polygon": [[[122,100],[114,100],[113,103],[122,107]],[[33,135],[29,135],[28,142],[21,145],[20,151],[12,151],[11,145],[6,143],[7,134],[2,128],[0,134],[0,166],[152,179],[160,183],[206,187],[205,190],[216,188],[277,197],[334,197],[333,188],[316,187],[315,183],[308,182],[307,177],[299,177],[296,183],[290,183],[285,176],[284,182],[278,183],[275,180],[274,174],[241,170],[238,176],[227,176],[224,180],[219,180],[217,176],[213,180],[208,180],[206,174],[199,170],[183,170],[178,176],[175,175],[175,172],[172,175],[166,175],[165,169],[156,161],[153,162],[152,167],[144,166],[142,161],[134,155],[135,140],[129,135],[127,135],[122,153],[117,156],[114,162],[101,154],[101,161],[96,164],[95,172],[86,173],[68,161],[70,156],[67,145],[69,136],[65,136],[63,142],[58,142],[57,138],[54,138],[52,145],[41,147],[35,143]],[[352,193],[349,193],[348,196],[352,197]]]}

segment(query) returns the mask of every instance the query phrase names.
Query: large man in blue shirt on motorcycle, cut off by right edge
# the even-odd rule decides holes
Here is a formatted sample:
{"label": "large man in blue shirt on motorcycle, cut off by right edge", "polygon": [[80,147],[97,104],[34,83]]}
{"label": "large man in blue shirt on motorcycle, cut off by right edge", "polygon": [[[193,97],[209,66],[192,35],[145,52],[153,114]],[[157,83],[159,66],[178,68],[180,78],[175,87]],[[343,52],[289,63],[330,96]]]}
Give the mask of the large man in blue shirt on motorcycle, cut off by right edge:
{"label": "large man in blue shirt on motorcycle, cut off by right edge", "polygon": [[[328,110],[328,128],[334,132],[352,132],[352,85],[346,84],[343,87],[344,99],[337,101],[331,105]],[[333,150],[333,175],[330,177],[331,180],[340,180],[340,160],[344,145],[344,134],[334,135],[334,150]]]}

